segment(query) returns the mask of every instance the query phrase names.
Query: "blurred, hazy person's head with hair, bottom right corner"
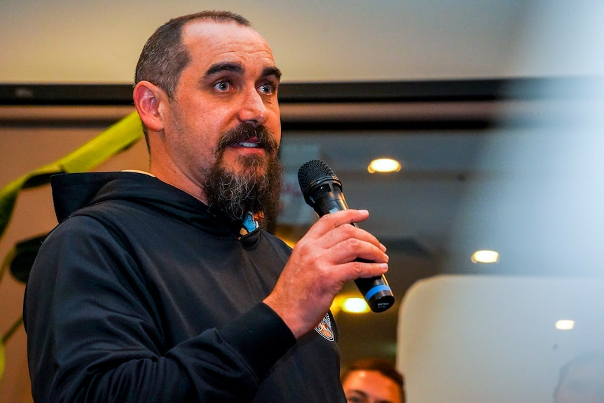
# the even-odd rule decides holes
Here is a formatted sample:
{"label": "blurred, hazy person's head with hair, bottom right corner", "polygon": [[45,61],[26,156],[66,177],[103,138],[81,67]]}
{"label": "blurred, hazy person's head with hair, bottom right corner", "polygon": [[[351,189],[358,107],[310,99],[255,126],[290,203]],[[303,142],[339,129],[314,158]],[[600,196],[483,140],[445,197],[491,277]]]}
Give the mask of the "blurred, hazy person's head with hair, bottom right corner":
{"label": "blurred, hazy person's head with hair, bottom right corner", "polygon": [[604,403],[604,355],[586,353],[564,364],[554,403]]}

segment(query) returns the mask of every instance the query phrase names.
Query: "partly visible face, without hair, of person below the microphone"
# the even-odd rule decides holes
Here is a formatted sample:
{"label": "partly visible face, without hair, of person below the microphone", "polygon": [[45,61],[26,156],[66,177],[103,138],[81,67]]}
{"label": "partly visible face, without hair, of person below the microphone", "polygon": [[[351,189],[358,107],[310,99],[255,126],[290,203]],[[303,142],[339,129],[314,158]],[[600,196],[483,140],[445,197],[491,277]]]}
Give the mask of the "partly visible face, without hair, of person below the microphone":
{"label": "partly visible face, without hair, of person below the microphone", "polygon": [[348,403],[401,403],[401,390],[378,371],[352,371],[342,383]]}

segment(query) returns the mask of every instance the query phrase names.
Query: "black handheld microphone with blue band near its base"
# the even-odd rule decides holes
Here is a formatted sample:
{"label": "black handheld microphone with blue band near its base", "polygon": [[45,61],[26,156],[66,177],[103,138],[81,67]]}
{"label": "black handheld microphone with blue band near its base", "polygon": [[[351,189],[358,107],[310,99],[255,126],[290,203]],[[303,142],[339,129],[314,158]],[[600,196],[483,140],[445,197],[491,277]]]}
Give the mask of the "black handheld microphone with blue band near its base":
{"label": "black handheld microphone with blue band near its base", "polygon": [[[319,217],[340,210],[348,210],[344,193],[342,193],[342,182],[329,168],[329,165],[322,160],[310,160],[304,163],[298,170],[298,184],[300,184],[304,200],[315,209]],[[357,226],[355,223],[352,225]],[[357,259],[356,261],[366,260]],[[392,289],[384,275],[357,278],[355,284],[373,312],[383,312],[394,304]]]}

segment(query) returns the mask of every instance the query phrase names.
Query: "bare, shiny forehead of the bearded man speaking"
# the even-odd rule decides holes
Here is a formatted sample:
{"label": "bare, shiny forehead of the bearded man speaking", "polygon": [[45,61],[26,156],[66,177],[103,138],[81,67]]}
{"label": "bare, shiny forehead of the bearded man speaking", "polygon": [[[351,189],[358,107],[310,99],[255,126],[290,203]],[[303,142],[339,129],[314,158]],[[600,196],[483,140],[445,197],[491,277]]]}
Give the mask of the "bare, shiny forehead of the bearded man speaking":
{"label": "bare, shiny forehead of the bearded man speaking", "polygon": [[274,66],[273,53],[263,37],[251,27],[236,22],[199,20],[183,29],[183,43],[194,63],[256,62]]}

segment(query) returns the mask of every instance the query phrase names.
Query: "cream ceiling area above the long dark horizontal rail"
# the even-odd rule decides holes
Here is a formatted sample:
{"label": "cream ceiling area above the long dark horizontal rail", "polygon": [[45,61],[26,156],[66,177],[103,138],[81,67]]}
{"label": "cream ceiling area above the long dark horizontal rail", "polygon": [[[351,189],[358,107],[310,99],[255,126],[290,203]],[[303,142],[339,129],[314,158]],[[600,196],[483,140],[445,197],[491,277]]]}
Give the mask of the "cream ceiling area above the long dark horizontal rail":
{"label": "cream ceiling area above the long dark horizontal rail", "polygon": [[[573,57],[527,60],[526,48],[574,52],[585,33],[566,22],[583,17],[583,3],[0,0],[0,81],[130,83],[156,27],[212,8],[249,18],[272,46],[286,82],[572,74],[591,67]],[[551,15],[556,9],[562,17]],[[546,25],[556,29],[544,35]]]}

